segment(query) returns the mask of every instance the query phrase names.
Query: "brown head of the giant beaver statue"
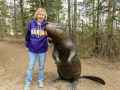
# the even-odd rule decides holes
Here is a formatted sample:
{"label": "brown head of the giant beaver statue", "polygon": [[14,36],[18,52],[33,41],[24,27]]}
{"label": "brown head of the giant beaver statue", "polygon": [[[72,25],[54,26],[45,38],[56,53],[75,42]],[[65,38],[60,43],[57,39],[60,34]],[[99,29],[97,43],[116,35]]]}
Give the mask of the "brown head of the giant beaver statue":
{"label": "brown head of the giant beaver statue", "polygon": [[45,30],[52,40],[64,40],[67,37],[66,28],[58,23],[48,22],[45,26]]}

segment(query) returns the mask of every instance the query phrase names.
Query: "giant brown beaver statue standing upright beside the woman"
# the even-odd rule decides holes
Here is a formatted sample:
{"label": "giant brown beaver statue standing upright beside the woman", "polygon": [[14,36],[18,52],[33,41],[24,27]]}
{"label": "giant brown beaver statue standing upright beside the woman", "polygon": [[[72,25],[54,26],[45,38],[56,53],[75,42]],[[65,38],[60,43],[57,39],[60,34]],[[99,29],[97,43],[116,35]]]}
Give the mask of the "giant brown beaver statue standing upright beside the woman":
{"label": "giant brown beaver statue standing upright beside the woman", "polygon": [[104,80],[96,76],[80,76],[81,63],[77,56],[76,47],[67,37],[66,29],[57,23],[48,22],[45,30],[54,44],[53,59],[57,65],[59,77],[51,79],[50,83],[60,79],[70,80],[69,87],[76,90],[79,78],[87,78],[105,84]]}

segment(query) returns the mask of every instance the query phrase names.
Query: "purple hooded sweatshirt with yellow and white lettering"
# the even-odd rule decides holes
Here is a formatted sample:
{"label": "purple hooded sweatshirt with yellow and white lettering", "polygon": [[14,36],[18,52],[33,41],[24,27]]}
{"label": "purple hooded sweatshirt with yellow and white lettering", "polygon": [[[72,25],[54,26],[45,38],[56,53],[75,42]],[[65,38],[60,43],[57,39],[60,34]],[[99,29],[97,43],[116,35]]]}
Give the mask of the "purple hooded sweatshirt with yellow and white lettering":
{"label": "purple hooded sweatshirt with yellow and white lettering", "polygon": [[41,35],[47,21],[44,20],[41,24],[37,23],[36,19],[30,20],[26,32],[26,47],[31,52],[42,53],[48,50],[47,36]]}

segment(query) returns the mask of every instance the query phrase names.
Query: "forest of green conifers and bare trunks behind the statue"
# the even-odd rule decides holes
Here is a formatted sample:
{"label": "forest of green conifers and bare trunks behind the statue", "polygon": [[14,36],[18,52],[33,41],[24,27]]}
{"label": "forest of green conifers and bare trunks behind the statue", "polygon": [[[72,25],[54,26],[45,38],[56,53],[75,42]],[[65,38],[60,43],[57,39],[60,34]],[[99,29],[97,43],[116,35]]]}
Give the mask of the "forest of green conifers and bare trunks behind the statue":
{"label": "forest of green conifers and bare trunks behind the statue", "polygon": [[68,29],[81,58],[120,61],[120,0],[0,0],[0,41],[24,39],[39,7]]}

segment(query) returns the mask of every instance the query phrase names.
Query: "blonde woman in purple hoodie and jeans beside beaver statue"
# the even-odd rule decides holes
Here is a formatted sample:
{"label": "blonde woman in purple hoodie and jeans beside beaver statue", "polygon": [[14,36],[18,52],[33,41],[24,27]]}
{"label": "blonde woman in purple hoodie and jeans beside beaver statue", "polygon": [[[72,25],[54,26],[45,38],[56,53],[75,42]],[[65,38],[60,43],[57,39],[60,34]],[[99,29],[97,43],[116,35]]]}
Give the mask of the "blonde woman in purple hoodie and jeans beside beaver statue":
{"label": "blonde woman in purple hoodie and jeans beside beaver statue", "polygon": [[32,82],[32,72],[38,57],[39,74],[38,83],[39,87],[43,87],[44,83],[44,62],[46,59],[46,51],[48,50],[47,33],[44,27],[47,23],[47,13],[45,9],[39,8],[34,14],[34,19],[30,20],[26,32],[26,47],[28,48],[29,66],[26,75],[26,84],[24,90],[29,90]]}

